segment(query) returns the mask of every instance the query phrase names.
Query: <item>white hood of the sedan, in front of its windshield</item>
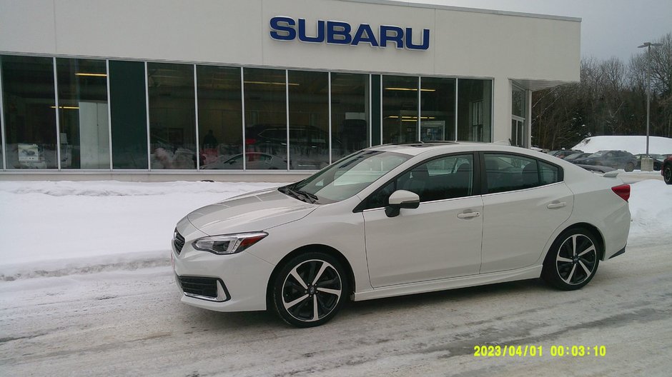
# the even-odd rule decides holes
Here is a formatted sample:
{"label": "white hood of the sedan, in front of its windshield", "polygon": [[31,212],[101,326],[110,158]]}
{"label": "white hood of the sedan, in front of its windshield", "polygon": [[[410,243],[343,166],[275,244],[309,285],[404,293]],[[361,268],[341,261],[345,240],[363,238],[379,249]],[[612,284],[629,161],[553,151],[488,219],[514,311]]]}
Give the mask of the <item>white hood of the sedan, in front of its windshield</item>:
{"label": "white hood of the sedan, in front of its windshield", "polygon": [[245,231],[263,231],[300,220],[317,208],[272,188],[235,196],[198,208],[187,219],[209,236]]}

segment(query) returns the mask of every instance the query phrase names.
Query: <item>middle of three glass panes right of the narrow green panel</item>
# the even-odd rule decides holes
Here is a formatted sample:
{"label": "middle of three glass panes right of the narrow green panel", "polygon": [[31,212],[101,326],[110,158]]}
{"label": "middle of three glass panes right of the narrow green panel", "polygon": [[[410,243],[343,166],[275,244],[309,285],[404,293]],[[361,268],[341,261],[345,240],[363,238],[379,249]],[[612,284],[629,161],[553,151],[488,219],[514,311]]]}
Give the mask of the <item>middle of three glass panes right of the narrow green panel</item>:
{"label": "middle of three glass panes right of the narrow green panel", "polygon": [[455,79],[423,77],[420,140],[455,140]]}

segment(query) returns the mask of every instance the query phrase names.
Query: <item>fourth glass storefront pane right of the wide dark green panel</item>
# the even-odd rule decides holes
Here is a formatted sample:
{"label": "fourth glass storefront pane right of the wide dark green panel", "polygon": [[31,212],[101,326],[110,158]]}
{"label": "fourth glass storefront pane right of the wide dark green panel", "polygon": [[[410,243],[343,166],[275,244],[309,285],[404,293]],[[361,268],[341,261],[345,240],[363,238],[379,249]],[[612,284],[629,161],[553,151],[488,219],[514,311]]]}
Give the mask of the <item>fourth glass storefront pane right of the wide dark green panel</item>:
{"label": "fourth glass storefront pane right of the wide dark green panel", "polygon": [[[289,71],[290,166],[318,170],[329,164],[329,74]],[[339,149],[340,145],[333,145]]]}

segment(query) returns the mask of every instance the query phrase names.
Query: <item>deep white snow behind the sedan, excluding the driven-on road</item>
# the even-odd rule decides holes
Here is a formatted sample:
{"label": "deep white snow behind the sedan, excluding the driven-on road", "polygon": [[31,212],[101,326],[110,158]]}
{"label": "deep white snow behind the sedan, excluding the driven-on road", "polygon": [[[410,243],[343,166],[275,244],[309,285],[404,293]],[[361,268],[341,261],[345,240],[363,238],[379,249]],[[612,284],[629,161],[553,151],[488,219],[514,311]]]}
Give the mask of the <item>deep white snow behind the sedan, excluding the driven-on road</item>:
{"label": "deep white snow behind the sedan, excluding the driven-on road", "polygon": [[[167,266],[182,216],[273,186],[280,184],[0,182],[0,281]],[[631,243],[670,233],[672,186],[633,184],[630,203]]]}

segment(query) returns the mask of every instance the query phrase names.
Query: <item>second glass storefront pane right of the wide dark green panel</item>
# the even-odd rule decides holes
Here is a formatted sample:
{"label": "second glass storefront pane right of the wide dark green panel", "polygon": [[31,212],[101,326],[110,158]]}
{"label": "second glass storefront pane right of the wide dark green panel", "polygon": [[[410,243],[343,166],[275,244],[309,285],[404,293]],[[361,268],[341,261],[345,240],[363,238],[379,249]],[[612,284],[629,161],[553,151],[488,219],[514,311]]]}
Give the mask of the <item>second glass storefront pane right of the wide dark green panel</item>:
{"label": "second glass storefront pane right of the wide dark green panel", "polygon": [[240,69],[197,66],[201,169],[242,169]]}

